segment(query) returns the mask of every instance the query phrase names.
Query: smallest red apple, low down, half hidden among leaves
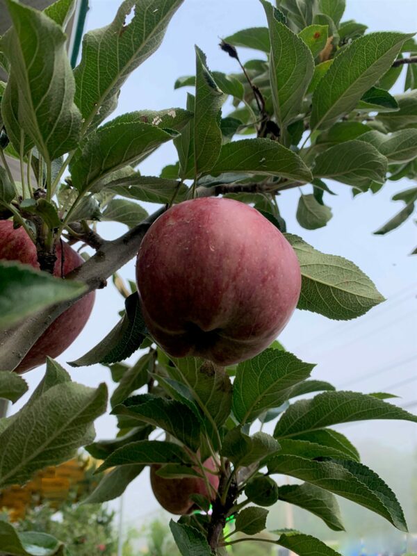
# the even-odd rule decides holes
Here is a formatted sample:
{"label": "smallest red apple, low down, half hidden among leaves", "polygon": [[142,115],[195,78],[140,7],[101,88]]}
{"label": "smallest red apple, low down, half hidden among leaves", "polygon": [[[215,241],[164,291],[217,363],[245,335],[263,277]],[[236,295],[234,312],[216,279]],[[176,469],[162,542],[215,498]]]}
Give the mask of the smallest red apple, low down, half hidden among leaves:
{"label": "smallest red apple, low down, half hidden among leaves", "polygon": [[[165,479],[156,475],[156,471],[161,466],[152,465],[151,466],[151,485],[152,490],[156,500],[161,504],[161,506],[170,512],[171,514],[186,515],[190,514],[195,507],[195,502],[190,499],[192,494],[202,494],[208,498],[208,500],[215,499],[215,491],[210,489],[207,491],[206,483],[203,479],[199,477],[183,477],[182,479]],[[217,466],[212,457],[204,461],[204,467],[217,471]],[[195,468],[199,471],[199,468]],[[217,489],[219,486],[218,475],[212,475],[211,473],[206,473],[208,482]]]}

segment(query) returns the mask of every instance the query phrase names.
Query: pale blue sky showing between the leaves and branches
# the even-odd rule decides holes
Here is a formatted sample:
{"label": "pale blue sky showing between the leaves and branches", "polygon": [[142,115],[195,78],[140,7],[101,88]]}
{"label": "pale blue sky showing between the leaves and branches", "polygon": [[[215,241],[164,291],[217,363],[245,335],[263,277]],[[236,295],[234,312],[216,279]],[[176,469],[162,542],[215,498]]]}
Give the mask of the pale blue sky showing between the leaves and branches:
{"label": "pale blue sky showing between the leaves and branches", "polygon": [[[357,19],[367,24],[369,31],[417,31],[414,0],[395,3],[347,0],[347,4],[343,19]],[[116,0],[90,0],[87,28],[111,22],[118,5]],[[178,76],[193,74],[194,44],[206,53],[211,70],[236,72],[234,60],[218,48],[219,38],[241,28],[263,25],[265,16],[256,0],[186,0],[174,16],[161,48],[125,83],[115,115],[143,108],[185,106],[186,90],[174,90],[173,85]],[[241,50],[243,60],[259,57],[259,54]],[[395,92],[401,92],[401,87]],[[175,160],[173,147],[165,145],[142,163],[140,170],[142,174],[157,175],[163,166]],[[355,199],[352,199],[349,186],[330,181],[328,184],[338,194],[327,198],[334,218],[327,227],[316,231],[300,228],[295,220],[297,190],[285,192],[280,197],[279,206],[288,231],[302,236],[318,250],[345,256],[359,265],[375,281],[387,301],[363,318],[351,322],[335,322],[306,311],[296,311],[279,339],[300,359],[318,363],[314,378],[329,380],[338,388],[346,385],[347,389],[365,392],[389,390],[402,397],[398,404],[417,402],[417,379],[390,388],[416,375],[417,257],[408,256],[417,244],[416,226],[409,220],[388,236],[372,234],[400,210],[400,203],[391,202],[391,196],[411,183],[407,180],[388,182],[377,195],[364,194]],[[124,230],[118,224],[101,225],[106,238],[120,235]],[[133,262],[122,269],[122,275],[133,278]],[[95,345],[113,327],[121,306],[122,299],[112,286],[99,291],[92,318],[83,334],[58,360],[65,364]],[[43,372],[41,368],[26,375],[31,387],[38,383]],[[71,373],[74,380],[90,386],[97,386],[103,380],[110,381],[108,370],[100,366],[80,368]],[[411,411],[417,411],[417,404]],[[111,437],[115,432],[114,423],[110,416],[101,418],[97,423],[98,436]],[[404,457],[411,457],[416,447],[416,425],[411,423],[359,423],[341,426],[340,430],[360,446],[366,446],[370,438],[387,446],[400,443],[404,447]],[[366,450],[362,450],[362,454],[366,462]],[[150,493],[147,473],[129,489],[126,507],[129,518],[143,516],[157,508]]]}

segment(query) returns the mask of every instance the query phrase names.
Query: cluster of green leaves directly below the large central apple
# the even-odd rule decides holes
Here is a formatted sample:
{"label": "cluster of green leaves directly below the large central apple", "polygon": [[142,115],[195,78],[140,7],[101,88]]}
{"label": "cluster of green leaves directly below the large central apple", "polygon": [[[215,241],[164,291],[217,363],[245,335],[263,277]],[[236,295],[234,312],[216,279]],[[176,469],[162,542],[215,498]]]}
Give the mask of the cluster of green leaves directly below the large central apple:
{"label": "cluster of green leaves directly below the large central apple", "polygon": [[[210,501],[195,496],[201,513],[183,516],[170,526],[181,555],[211,555],[210,524],[233,516],[235,529],[220,547],[265,530],[268,507],[278,500],[300,506],[320,517],[334,531],[343,523],[334,494],[383,516],[400,530],[407,525],[394,493],[384,481],[360,463],[352,443],[332,425],[367,419],[404,419],[413,416],[384,401],[389,395],[335,391],[327,382],[310,379],[314,365],[286,352],[278,343],[236,367],[219,369],[195,358],[168,359],[151,346],[137,363],[109,365],[117,382],[111,398],[120,433],[113,441],[93,443],[87,449],[104,459],[101,471],[112,468],[90,496],[104,502],[120,496],[145,466],[158,464],[163,477],[204,477],[196,471],[195,454],[202,461],[218,455],[220,479],[217,500],[220,516],[207,514]],[[148,386],[148,393],[136,389]],[[308,393],[310,399],[299,399]],[[295,401],[294,401],[295,400]],[[277,420],[273,435],[265,423]],[[161,430],[167,440],[156,439]],[[256,432],[254,432],[256,431]],[[150,439],[149,439],[150,435]],[[303,481],[277,484],[272,475]],[[227,505],[228,493],[231,493]],[[240,498],[239,498],[240,497]],[[242,498],[243,497],[243,498]],[[272,531],[277,543],[300,555],[316,551],[336,555],[321,541],[296,531]],[[256,540],[256,537],[254,537]],[[221,548],[219,548],[221,550]],[[221,553],[221,552],[219,552]]]}

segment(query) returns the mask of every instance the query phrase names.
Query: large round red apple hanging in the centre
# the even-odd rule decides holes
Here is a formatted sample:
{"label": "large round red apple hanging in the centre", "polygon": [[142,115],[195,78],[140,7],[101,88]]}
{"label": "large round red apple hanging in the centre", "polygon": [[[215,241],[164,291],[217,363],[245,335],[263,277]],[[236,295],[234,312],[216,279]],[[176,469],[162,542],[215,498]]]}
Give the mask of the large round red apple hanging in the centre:
{"label": "large round red apple hanging in the centre", "polygon": [[202,198],[163,213],[142,241],[138,292],[152,336],[173,357],[225,366],[261,352],[300,296],[297,256],[256,209]]}

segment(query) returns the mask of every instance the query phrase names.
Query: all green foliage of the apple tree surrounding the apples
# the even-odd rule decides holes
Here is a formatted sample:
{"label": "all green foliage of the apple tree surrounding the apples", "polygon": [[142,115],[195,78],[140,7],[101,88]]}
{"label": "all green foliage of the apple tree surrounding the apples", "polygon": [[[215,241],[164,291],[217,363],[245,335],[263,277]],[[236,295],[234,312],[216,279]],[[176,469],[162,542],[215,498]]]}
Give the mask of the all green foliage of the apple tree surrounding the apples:
{"label": "all green foliage of the apple tree surrounding the apples", "polygon": [[[228,368],[170,359],[149,338],[135,287],[128,290],[117,270],[136,255],[158,215],[184,199],[238,199],[286,233],[279,199],[287,189],[301,191],[297,221],[317,229],[332,218],[328,179],[350,187],[353,195],[376,193],[387,180],[415,179],[416,43],[411,34],[366,33],[363,24],[343,20],[344,0],[278,0],[277,6],[260,0],[265,26],[222,41],[225,56],[236,60],[234,74],[208,70],[197,47],[195,75],[174,85],[191,87],[185,106],[138,109],[112,119],[124,81],[159,47],[182,3],[124,0],[110,25],[85,34],[73,70],[63,28],[74,0],[58,0],[43,12],[6,0],[13,26],[0,42],[0,63],[8,75],[7,83],[0,82],[0,218],[23,226],[38,252],[53,252],[56,241],[65,238],[92,246],[96,254],[73,273],[76,280],[0,265],[0,397],[15,402],[26,392],[13,369],[51,318],[80,295],[104,287],[113,276],[126,299],[119,324],[71,363],[111,369],[117,438],[94,442],[93,422],[107,407],[106,385],[76,384],[49,359],[44,379],[24,407],[0,419],[0,488],[22,484],[87,446],[104,460],[101,470],[111,468],[90,496],[90,502],[104,502],[120,496],[151,464],[159,464],[164,477],[198,473],[206,480],[203,468],[193,468],[199,450],[202,461],[215,455],[220,483],[210,512],[208,500],[196,496],[201,511],[171,522],[183,556],[220,555],[236,541],[253,535],[260,540],[266,507],[277,500],[341,531],[335,495],[343,496],[406,531],[395,494],[332,427],[368,419],[416,421],[416,416],[386,402],[387,396],[336,391],[311,379],[314,365],[278,343]],[[187,9],[184,3],[181,9]],[[244,48],[258,54],[243,65]],[[391,95],[403,69],[404,92]],[[170,141],[177,162],[159,176],[142,175],[140,162]],[[6,156],[20,161],[19,180]],[[409,218],[417,190],[409,188],[393,200],[402,208],[376,234]],[[155,203],[156,211],[147,215],[140,202]],[[106,220],[129,230],[104,240],[97,222]],[[291,233],[286,238],[300,261],[299,309],[349,320],[383,301],[354,263],[318,252]],[[136,363],[126,364],[139,348]],[[147,393],[138,394],[143,387]],[[307,393],[315,395],[303,398]],[[262,432],[272,420],[273,434]],[[277,484],[275,475],[301,483]],[[223,534],[230,517],[238,537]],[[336,555],[295,530],[273,531],[265,540],[300,556]],[[3,553],[52,556],[65,550],[59,539],[18,534],[0,522]]]}

